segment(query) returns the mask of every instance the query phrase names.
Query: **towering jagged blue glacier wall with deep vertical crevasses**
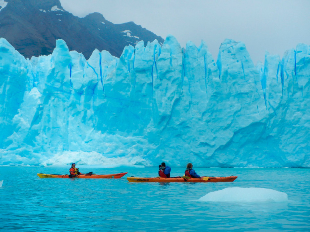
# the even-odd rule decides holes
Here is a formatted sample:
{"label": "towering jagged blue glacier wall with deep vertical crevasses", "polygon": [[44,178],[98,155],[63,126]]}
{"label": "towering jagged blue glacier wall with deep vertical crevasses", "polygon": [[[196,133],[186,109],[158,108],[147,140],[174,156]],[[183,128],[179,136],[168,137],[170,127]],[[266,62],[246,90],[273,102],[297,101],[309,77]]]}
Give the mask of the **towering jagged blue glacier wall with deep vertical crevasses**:
{"label": "towering jagged blue glacier wall with deep vertical crevasses", "polygon": [[0,165],[310,167],[310,49],[254,66],[241,42],[174,37],[49,56],[0,39]]}

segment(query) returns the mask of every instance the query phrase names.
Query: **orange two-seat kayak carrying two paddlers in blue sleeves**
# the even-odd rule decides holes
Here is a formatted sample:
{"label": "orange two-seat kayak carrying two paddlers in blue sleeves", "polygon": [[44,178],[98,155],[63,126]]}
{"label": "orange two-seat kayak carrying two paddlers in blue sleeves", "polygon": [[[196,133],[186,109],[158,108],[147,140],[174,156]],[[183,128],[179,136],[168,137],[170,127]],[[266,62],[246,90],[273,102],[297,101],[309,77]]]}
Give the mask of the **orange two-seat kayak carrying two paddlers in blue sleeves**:
{"label": "orange two-seat kayak carrying two paddlers in blue sleeves", "polygon": [[164,178],[164,177],[127,177],[129,182],[233,182],[237,176],[190,178],[187,176]]}

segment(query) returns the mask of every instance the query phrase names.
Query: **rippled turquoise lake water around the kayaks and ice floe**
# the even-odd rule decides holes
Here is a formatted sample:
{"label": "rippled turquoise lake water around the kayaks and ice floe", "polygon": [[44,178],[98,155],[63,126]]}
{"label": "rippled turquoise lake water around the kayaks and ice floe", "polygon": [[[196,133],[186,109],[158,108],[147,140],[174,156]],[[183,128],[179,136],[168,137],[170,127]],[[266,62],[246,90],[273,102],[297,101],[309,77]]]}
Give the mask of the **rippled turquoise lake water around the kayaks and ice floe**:
{"label": "rippled turquoise lake water around the kayaks and ice floe", "polygon": [[[130,176],[156,177],[158,168],[79,168],[128,174],[121,179],[38,178],[37,173],[68,174],[69,167],[0,167],[0,231],[310,231],[310,169],[195,168],[200,175],[238,178],[128,183]],[[184,170],[172,168],[171,176]],[[229,187],[281,191],[288,201],[197,201]]]}

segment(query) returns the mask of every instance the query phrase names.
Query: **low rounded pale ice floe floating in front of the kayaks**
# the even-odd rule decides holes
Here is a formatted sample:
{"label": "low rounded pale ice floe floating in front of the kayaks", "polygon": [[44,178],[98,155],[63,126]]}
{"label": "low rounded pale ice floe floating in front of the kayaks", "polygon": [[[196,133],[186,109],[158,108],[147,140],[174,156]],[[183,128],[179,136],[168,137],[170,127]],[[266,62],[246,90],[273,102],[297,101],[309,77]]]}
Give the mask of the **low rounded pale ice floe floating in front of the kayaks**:
{"label": "low rounded pale ice floe floating in front of the kayaks", "polygon": [[268,188],[232,187],[210,192],[201,197],[198,201],[281,202],[287,201],[287,194]]}

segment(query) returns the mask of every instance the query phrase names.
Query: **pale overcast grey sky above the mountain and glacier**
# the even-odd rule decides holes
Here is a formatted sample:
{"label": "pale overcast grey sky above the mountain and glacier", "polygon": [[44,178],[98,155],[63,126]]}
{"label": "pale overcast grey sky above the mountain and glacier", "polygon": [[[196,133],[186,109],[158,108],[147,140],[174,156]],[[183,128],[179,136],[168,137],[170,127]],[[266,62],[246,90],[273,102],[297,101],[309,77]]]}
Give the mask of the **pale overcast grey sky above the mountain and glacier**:
{"label": "pale overcast grey sky above the mountain and glacier", "polygon": [[78,17],[99,12],[113,24],[129,21],[182,47],[204,40],[217,58],[224,39],[242,41],[256,65],[265,51],[278,54],[310,45],[310,0],[60,0]]}

